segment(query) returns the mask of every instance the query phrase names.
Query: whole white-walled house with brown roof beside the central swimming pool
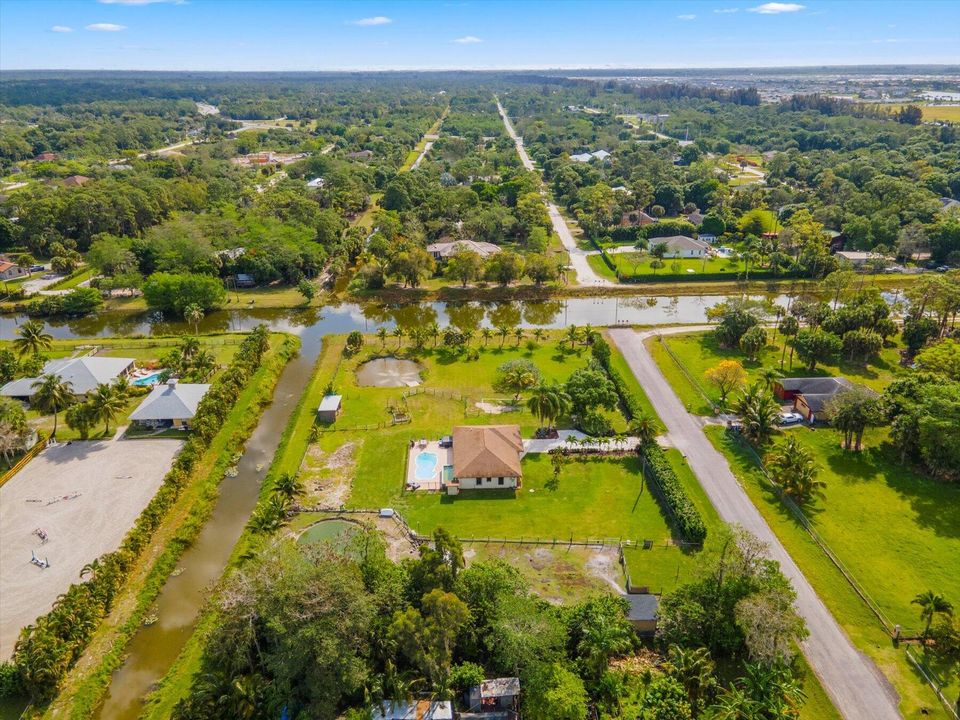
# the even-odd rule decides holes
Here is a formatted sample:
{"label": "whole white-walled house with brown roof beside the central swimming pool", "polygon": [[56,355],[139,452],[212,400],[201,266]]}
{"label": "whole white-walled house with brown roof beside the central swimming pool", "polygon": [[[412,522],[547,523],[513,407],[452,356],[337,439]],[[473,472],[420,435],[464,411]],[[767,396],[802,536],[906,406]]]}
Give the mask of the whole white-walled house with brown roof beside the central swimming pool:
{"label": "whole white-walled house with brown roof beside the central swimming pool", "polygon": [[453,429],[453,477],[444,483],[447,494],[520,487],[522,454],[519,425],[458,425]]}

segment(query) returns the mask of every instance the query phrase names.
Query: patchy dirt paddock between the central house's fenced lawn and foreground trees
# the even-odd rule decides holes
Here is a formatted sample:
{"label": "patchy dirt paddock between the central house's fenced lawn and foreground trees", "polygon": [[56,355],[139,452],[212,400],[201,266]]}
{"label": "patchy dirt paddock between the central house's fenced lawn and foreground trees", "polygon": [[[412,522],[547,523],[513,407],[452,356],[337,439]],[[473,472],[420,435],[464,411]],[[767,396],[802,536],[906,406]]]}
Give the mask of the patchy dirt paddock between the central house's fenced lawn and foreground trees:
{"label": "patchy dirt paddock between the central house's fenced lawn and foreground trees", "polygon": [[517,568],[537,595],[556,604],[576,602],[599,592],[624,592],[615,547],[472,543],[467,564],[500,559]]}

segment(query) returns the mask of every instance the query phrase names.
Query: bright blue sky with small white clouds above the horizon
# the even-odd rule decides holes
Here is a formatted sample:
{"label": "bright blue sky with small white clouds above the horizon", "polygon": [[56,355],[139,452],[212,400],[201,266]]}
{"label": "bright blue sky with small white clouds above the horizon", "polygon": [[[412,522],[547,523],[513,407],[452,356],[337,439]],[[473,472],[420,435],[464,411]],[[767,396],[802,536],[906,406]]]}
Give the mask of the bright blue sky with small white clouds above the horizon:
{"label": "bright blue sky with small white clouds above the horizon", "polygon": [[960,2],[0,0],[0,70],[957,63]]}

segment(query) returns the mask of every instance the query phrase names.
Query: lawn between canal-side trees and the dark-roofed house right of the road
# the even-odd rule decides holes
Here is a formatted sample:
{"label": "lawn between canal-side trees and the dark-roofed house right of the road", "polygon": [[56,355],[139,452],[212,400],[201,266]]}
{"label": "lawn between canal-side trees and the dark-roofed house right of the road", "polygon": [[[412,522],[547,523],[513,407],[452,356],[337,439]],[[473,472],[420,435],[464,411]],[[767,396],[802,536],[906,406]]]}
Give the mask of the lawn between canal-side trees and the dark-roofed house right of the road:
{"label": "lawn between canal-side trees and the dark-roofed house right of the road", "polygon": [[899,363],[900,346],[884,348],[880,355],[868,365],[859,365],[845,360],[832,363],[820,363],[813,371],[807,370],[806,366],[794,355],[793,365],[790,365],[790,348],[787,348],[786,355],[783,353],[783,336],[774,337],[773,329],[767,333],[771,344],[764,348],[757,360],[748,361],[739,348],[722,348],[714,339],[713,332],[697,332],[680,335],[664,335],[662,340],[651,338],[647,340],[649,348],[660,369],[663,371],[667,380],[676,390],[677,395],[687,405],[688,409],[697,415],[711,415],[713,409],[703,398],[703,395],[697,391],[684,373],[677,367],[676,362],[671,358],[664,346],[670,351],[687,369],[693,380],[700,386],[700,389],[707,394],[714,402],[719,402],[720,393],[710,383],[707,382],[704,374],[707,370],[714,367],[723,360],[736,360],[743,365],[744,370],[749,376],[748,384],[759,377],[761,370],[765,367],[780,368],[780,359],[784,357],[783,376],[784,377],[832,377],[843,376],[852,382],[864,385],[876,392],[882,392],[890,384],[894,377],[903,372]]}

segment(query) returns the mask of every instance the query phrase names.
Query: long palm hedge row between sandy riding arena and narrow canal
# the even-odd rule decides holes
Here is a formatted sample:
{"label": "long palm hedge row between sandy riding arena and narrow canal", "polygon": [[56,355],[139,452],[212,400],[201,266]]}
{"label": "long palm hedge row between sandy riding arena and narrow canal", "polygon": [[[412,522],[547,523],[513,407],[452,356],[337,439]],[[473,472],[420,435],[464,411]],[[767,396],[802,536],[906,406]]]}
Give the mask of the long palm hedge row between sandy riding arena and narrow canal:
{"label": "long palm hedge row between sandy riding arena and narrow canal", "polygon": [[[34,625],[24,628],[14,651],[19,688],[34,701],[52,699],[67,672],[86,649],[100,621],[110,612],[127,574],[190,480],[190,473],[226,420],[247,381],[260,367],[270,340],[264,326],[251,332],[233,362],[211,385],[197,407],[190,439],[177,454],[163,484],[137,518],[119,549],[91,563],[90,578],[75,583]],[[4,675],[9,674],[5,669]]]}

